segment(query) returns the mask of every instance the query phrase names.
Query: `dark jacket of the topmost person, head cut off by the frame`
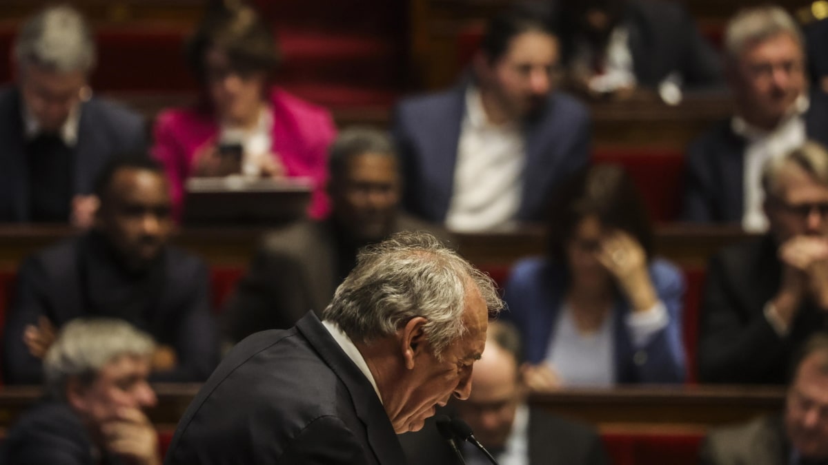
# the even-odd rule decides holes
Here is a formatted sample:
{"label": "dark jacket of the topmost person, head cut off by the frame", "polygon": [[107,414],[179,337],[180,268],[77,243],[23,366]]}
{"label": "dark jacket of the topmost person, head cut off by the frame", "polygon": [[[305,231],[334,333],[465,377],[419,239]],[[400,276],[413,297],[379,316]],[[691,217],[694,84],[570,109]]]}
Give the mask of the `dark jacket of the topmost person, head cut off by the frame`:
{"label": "dark jacket of the topmost person, head cut off by the frame", "polygon": [[[566,0],[561,0],[566,1]],[[577,25],[560,18],[564,60],[574,54]],[[638,85],[657,89],[669,74],[681,76],[688,89],[724,84],[720,56],[701,36],[693,17],[677,2],[627,2],[621,24],[627,28],[633,72]]]}

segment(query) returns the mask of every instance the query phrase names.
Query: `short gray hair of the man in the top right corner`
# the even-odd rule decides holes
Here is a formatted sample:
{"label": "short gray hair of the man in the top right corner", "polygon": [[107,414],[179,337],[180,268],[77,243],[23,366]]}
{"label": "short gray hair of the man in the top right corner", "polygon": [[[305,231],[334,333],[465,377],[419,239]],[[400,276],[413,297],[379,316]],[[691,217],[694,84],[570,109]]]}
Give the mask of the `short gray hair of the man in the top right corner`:
{"label": "short gray hair of the man in the top right corner", "polygon": [[728,22],[724,50],[729,60],[739,60],[745,46],[787,34],[805,50],[805,39],[797,22],[782,7],[744,8]]}

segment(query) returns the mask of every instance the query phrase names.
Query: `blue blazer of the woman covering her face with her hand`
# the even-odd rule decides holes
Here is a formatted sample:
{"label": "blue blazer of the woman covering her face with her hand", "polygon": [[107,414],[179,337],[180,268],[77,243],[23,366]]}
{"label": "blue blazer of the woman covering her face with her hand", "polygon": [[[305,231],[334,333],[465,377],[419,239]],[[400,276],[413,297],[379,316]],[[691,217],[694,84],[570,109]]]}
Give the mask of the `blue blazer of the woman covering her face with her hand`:
{"label": "blue blazer of the woman covering her face with her hand", "polygon": [[[614,362],[617,383],[680,383],[686,378],[686,355],[681,343],[681,310],[685,284],[676,266],[653,260],[650,277],[667,307],[670,322],[643,348],[633,347],[625,317],[629,304],[614,305]],[[539,363],[554,335],[554,326],[566,295],[566,268],[535,257],[518,261],[506,284],[508,311],[500,318],[513,322],[524,338],[527,362]]]}

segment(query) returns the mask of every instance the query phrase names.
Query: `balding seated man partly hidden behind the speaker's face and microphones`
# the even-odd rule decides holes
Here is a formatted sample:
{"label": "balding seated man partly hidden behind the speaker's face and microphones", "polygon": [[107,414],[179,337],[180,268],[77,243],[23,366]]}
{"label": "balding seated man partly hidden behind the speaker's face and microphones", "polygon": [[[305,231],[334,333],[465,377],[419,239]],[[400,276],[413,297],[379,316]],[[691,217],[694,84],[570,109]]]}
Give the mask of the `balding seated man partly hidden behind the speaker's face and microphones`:
{"label": "balding seated man partly hidden behind the speaker's face and microphones", "polygon": [[[474,363],[469,399],[451,401],[483,447],[498,463],[527,465],[607,465],[604,445],[594,429],[526,404],[520,372],[521,342],[513,326],[490,321],[483,357]],[[459,463],[432,420],[416,433],[402,434],[408,463]],[[465,463],[489,463],[470,443],[460,446]]]}

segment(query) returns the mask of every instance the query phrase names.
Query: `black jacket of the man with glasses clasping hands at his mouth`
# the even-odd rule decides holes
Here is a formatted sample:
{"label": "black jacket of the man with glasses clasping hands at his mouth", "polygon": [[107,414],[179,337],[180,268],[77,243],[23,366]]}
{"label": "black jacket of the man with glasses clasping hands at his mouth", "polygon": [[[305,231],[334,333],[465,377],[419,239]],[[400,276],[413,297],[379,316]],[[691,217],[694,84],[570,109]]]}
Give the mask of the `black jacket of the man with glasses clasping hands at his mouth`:
{"label": "black jacket of the man with glasses clasping hands at his mouth", "polygon": [[828,314],[805,303],[780,338],[763,310],[779,289],[782,265],[769,236],[725,248],[707,267],[699,325],[699,381],[786,384],[789,363]]}

